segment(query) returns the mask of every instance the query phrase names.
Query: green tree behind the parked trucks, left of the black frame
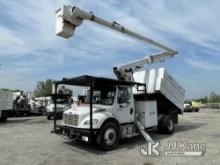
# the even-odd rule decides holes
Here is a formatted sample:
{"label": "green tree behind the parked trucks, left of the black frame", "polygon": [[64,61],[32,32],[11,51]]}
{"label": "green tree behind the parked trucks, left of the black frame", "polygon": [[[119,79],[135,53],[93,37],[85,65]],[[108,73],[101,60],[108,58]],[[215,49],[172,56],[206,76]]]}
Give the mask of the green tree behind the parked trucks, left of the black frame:
{"label": "green tree behind the parked trucks, left of the black frame", "polygon": [[52,79],[46,79],[44,81],[38,81],[37,87],[34,90],[34,96],[35,97],[42,97],[46,95],[52,94]]}

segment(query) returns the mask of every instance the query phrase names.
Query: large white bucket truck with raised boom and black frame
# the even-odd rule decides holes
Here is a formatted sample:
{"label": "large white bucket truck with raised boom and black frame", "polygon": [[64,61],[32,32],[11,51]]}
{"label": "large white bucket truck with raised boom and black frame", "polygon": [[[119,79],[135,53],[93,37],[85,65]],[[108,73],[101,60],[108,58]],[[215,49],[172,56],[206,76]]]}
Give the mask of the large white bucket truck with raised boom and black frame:
{"label": "large white bucket truck with raised boom and black frame", "polygon": [[[113,68],[117,79],[79,76],[55,82],[55,95],[59,85],[88,86],[85,104],[63,113],[61,125],[54,118],[53,132],[96,142],[104,150],[114,149],[119,139],[142,134],[152,141],[146,129],[157,127],[161,132],[172,133],[183,113],[184,89],[164,69],[144,69],[145,64],[164,61],[177,52],[157,41],[135,33],[116,22],[109,22],[78,7],[63,5],[56,11],[56,34],[69,38],[84,20],[106,26],[147,44],[163,49]],[[55,104],[56,115],[56,104]]]}

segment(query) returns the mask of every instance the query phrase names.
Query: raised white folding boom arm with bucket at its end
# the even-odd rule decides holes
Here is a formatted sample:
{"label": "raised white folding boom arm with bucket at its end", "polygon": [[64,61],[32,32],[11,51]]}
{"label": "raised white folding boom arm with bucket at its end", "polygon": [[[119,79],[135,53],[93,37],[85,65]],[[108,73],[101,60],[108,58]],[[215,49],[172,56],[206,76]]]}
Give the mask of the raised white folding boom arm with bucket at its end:
{"label": "raised white folding boom arm with bucket at its end", "polygon": [[132,73],[137,69],[143,68],[144,64],[151,64],[158,61],[164,61],[166,58],[172,57],[177,53],[175,50],[150,38],[135,33],[116,22],[109,22],[107,20],[95,16],[92,12],[88,13],[84,10],[79,9],[78,7],[72,7],[69,5],[63,5],[62,8],[59,8],[56,11],[56,35],[64,38],[69,38],[73,36],[75,28],[80,26],[83,20],[93,21],[97,24],[127,34],[147,44],[151,44],[153,46],[165,50],[164,52],[147,56],[143,59],[115,67],[114,73],[118,77],[118,79],[132,81]]}

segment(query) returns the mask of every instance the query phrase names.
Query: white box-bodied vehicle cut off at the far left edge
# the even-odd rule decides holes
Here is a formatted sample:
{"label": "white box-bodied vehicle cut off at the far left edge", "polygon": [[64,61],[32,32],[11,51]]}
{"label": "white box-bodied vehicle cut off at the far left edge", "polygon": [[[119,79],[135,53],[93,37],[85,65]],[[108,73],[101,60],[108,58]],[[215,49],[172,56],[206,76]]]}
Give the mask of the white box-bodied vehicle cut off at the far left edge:
{"label": "white box-bodied vehicle cut off at the far left edge", "polygon": [[8,113],[13,110],[13,93],[0,91],[0,121],[6,122]]}

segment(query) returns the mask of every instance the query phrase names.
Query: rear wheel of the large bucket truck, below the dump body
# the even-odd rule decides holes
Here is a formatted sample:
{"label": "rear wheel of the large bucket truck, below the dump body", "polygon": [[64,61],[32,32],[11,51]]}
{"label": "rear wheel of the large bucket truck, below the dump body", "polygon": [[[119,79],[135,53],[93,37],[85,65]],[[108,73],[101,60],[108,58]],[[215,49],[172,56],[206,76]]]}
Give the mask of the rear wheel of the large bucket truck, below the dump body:
{"label": "rear wheel of the large bucket truck, below the dump body", "polygon": [[158,129],[165,134],[172,134],[174,131],[174,122],[169,115],[164,115],[159,121]]}

